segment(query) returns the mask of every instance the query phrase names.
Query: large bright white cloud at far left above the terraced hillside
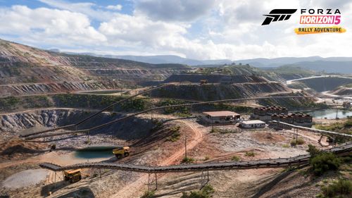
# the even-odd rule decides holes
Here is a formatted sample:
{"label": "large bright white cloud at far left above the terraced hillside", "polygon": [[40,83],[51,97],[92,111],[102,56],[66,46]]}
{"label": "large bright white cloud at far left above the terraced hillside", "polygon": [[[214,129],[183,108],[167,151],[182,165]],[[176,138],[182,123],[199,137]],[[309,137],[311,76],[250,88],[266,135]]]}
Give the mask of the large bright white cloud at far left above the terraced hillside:
{"label": "large bright white cloud at far left above the terraced hillside", "polygon": [[49,8],[31,9],[27,6],[12,6],[0,9],[0,33],[20,35],[25,40],[57,44],[103,42],[106,37],[90,26],[82,13]]}

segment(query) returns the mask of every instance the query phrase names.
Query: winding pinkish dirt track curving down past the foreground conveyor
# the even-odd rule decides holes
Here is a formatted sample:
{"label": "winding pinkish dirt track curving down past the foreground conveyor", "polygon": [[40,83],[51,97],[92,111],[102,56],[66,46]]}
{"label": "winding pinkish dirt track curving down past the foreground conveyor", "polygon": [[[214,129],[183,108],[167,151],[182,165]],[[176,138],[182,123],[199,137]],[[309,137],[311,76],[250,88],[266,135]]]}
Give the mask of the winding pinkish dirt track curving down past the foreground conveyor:
{"label": "winding pinkish dirt track curving down past the foreground conveyor", "polygon": [[[191,121],[187,120],[178,120],[182,124],[187,125],[188,128],[191,129],[191,132],[193,133],[192,139],[190,141],[187,141],[187,150],[193,149],[196,144],[199,144],[201,142],[202,137],[203,137],[203,132],[199,130],[197,127],[198,125],[196,123],[192,123]],[[163,160],[161,163],[158,163],[158,166],[167,166],[171,165],[174,163],[177,159],[180,159],[180,157],[184,155],[184,149],[180,149],[176,151],[174,154]],[[138,197],[138,193],[143,189],[143,185],[145,185],[145,182],[148,180],[148,175],[143,174],[138,180],[125,185],[125,187],[122,187],[118,192],[113,194],[111,197],[112,198],[122,198],[122,197]]]}

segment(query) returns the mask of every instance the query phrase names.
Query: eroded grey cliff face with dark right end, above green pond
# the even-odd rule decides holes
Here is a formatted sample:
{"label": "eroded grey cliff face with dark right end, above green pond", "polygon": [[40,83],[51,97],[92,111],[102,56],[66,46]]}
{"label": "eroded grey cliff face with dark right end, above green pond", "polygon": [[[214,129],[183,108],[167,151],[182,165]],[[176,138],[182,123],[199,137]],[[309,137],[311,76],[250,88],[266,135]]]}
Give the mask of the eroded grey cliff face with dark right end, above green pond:
{"label": "eroded grey cliff face with dark right end, above green pond", "polygon": [[[78,109],[43,109],[26,111],[23,113],[9,113],[0,115],[0,132],[2,135],[18,135],[22,130],[38,130],[55,126],[77,123],[78,120],[88,117],[92,111]],[[92,128],[93,126],[107,123],[119,118],[121,115],[101,113],[96,118],[80,125],[77,129]],[[118,135],[120,138],[129,140],[148,134],[151,129],[151,121],[144,118],[134,117],[127,122],[114,123],[95,132],[106,132]]]}

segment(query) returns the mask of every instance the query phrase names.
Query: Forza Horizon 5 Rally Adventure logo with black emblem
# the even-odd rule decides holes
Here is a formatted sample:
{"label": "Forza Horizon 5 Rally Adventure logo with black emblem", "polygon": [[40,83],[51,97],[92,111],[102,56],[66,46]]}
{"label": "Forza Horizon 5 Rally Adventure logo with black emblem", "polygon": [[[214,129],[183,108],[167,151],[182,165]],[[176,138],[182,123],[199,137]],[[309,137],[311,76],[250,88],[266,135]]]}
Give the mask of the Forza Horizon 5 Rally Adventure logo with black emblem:
{"label": "Forza Horizon 5 Rally Adventure logo with black emblem", "polygon": [[[297,9],[273,9],[269,14],[265,14],[262,25],[270,25],[272,22],[289,20],[296,13]],[[301,9],[299,24],[310,25],[333,25],[325,27],[297,27],[294,29],[297,35],[317,34],[317,33],[343,33],[344,27],[337,26],[341,23],[341,12],[339,9]]]}

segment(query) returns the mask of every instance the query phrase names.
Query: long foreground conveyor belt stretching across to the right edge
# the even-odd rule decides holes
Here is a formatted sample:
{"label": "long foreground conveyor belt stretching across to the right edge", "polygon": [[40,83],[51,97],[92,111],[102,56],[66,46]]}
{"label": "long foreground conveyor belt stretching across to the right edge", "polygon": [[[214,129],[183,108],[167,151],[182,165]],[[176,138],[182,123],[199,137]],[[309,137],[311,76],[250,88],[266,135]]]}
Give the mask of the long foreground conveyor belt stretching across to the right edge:
{"label": "long foreground conveyor belt stretching across to the right edge", "polygon": [[[341,144],[332,149],[326,149],[338,155],[350,155],[352,151],[352,142]],[[260,159],[256,161],[231,161],[219,163],[196,163],[196,164],[183,164],[174,166],[141,166],[126,163],[78,163],[70,166],[58,166],[54,163],[41,163],[39,166],[49,169],[51,171],[65,171],[77,168],[107,168],[122,171],[134,171],[141,173],[176,173],[176,172],[195,172],[195,171],[221,171],[233,169],[251,169],[251,168],[279,168],[287,166],[295,166],[307,164],[310,155],[294,156],[291,158],[279,159]]]}

